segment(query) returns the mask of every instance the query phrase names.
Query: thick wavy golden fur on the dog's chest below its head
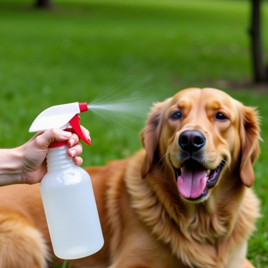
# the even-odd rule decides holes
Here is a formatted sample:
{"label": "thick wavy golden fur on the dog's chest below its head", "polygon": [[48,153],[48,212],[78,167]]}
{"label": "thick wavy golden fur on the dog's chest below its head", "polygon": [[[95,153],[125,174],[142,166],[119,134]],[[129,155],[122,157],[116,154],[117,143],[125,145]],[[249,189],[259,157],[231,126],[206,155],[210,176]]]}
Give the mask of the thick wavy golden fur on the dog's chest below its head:
{"label": "thick wavy golden fur on the dog's chest below its head", "polygon": [[[258,208],[258,199],[253,192],[243,191],[238,198],[239,205],[230,204],[233,210],[223,204],[214,208],[202,204],[186,208],[181,200],[172,197],[172,191],[170,194],[161,185],[163,179],[157,177],[161,173],[152,172],[151,177],[141,178],[139,159],[143,155],[144,152],[138,152],[123,175],[131,206],[141,221],[185,266],[224,267],[232,249],[248,239],[254,229],[258,212],[253,211]],[[114,233],[121,235],[118,230]]]}

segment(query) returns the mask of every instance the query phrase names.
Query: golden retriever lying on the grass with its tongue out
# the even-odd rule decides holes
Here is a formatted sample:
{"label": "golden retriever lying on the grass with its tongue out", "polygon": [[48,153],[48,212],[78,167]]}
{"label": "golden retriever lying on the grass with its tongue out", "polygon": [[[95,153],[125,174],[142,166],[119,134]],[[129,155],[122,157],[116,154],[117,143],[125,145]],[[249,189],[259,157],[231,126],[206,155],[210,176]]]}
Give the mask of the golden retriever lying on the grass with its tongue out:
{"label": "golden retriever lying on the grass with its tongue out", "polygon": [[[104,246],[72,268],[249,268],[259,216],[250,188],[259,117],[223,91],[188,88],[155,103],[132,157],[91,167]],[[39,185],[0,188],[0,267],[53,255]],[[54,256],[56,262],[62,260]]]}

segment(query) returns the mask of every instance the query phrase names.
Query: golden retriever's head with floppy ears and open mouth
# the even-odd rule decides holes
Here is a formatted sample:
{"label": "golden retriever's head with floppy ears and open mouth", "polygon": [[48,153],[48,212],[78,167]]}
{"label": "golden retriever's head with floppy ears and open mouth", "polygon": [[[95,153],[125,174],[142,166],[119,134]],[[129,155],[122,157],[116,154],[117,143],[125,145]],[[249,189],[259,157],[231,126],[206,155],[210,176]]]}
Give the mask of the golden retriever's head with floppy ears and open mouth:
{"label": "golden retriever's head with floppy ears and open mouth", "polygon": [[[169,166],[184,200],[202,202],[229,169],[247,187],[254,182],[259,126],[254,108],[223,91],[189,88],[156,103],[141,133],[146,158],[141,175],[153,165]],[[230,178],[231,179],[231,178]]]}

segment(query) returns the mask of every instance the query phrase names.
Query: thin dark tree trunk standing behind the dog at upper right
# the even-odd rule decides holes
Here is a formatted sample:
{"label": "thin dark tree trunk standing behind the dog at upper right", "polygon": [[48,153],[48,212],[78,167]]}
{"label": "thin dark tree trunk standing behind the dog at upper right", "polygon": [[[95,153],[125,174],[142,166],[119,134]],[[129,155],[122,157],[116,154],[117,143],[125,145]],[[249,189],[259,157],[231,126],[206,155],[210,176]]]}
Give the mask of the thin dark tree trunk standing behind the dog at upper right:
{"label": "thin dark tree trunk standing behind the dog at upper right", "polygon": [[253,62],[253,72],[255,82],[267,82],[268,74],[267,68],[264,64],[264,56],[261,42],[261,14],[260,5],[261,0],[251,0],[252,13],[251,13],[251,54]]}

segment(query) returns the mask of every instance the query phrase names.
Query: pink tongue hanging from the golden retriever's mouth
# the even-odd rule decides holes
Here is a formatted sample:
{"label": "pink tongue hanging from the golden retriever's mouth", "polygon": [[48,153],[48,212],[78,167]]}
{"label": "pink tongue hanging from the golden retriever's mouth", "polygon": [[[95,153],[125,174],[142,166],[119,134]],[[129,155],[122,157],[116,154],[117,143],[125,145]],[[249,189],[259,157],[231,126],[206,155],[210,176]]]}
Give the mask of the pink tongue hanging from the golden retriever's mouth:
{"label": "pink tongue hanging from the golden retriever's mouth", "polygon": [[178,190],[185,198],[197,198],[204,191],[207,180],[205,169],[184,165],[182,174],[177,180]]}

